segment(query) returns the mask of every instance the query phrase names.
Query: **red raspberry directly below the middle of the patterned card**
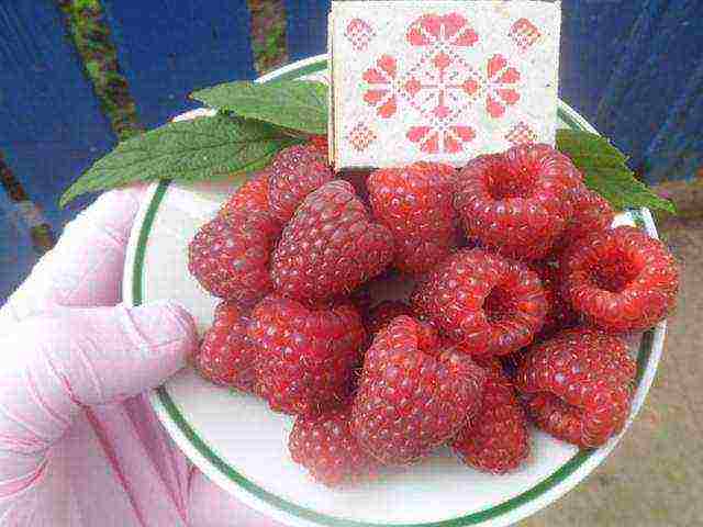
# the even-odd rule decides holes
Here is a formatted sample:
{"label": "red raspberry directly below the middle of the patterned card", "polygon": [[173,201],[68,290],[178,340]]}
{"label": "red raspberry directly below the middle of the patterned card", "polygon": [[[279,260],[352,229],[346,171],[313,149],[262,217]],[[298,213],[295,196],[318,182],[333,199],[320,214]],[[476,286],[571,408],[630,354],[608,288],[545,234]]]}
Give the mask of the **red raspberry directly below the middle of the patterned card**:
{"label": "red raspberry directly below the middle of the patterned card", "polygon": [[401,271],[426,272],[456,244],[455,178],[453,167],[429,162],[369,176],[371,209],[393,233],[394,265]]}

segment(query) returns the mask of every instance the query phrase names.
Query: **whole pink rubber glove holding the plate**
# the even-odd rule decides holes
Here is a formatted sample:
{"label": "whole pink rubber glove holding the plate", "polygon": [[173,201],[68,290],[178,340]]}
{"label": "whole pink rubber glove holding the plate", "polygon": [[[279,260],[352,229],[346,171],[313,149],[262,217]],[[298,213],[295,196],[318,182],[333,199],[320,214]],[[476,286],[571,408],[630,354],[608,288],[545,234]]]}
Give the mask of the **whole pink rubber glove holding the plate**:
{"label": "whole pink rubber glove holding the plate", "polygon": [[178,305],[116,305],[143,194],[103,194],[0,311],[0,526],[275,525],[194,469],[142,394],[197,346]]}

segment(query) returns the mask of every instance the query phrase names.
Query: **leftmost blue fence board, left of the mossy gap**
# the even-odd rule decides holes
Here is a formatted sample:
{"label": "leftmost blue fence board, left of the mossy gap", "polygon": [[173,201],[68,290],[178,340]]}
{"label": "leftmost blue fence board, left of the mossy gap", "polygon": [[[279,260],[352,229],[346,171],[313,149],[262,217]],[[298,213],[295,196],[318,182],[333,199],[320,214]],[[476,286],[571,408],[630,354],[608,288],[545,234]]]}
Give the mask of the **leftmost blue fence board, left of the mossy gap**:
{"label": "leftmost blue fence board, left of the mossy gap", "polygon": [[115,142],[53,0],[0,3],[0,150],[56,233],[58,197]]}

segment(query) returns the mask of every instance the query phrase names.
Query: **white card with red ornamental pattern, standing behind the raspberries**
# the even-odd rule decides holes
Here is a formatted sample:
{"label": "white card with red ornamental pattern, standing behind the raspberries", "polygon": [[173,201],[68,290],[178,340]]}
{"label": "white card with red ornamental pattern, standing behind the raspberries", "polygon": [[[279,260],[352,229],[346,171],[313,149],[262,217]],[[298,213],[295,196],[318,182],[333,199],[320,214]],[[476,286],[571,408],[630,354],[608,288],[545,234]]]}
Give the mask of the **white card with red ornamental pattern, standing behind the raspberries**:
{"label": "white card with red ornamental pattern, standing behind the raspberries", "polygon": [[560,2],[333,2],[335,166],[461,166],[554,144],[560,22]]}

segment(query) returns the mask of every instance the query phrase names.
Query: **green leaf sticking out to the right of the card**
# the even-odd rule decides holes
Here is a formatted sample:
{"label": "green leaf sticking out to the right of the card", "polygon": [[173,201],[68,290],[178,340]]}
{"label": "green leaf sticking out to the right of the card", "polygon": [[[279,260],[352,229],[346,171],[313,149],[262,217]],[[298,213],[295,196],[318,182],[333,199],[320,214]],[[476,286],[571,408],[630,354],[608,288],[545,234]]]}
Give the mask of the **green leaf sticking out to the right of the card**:
{"label": "green leaf sticking out to the right of the card", "polygon": [[627,157],[605,137],[573,130],[557,131],[557,148],[583,172],[585,186],[616,209],[646,206],[676,214],[673,203],[635,178]]}

